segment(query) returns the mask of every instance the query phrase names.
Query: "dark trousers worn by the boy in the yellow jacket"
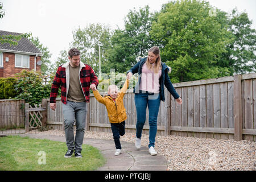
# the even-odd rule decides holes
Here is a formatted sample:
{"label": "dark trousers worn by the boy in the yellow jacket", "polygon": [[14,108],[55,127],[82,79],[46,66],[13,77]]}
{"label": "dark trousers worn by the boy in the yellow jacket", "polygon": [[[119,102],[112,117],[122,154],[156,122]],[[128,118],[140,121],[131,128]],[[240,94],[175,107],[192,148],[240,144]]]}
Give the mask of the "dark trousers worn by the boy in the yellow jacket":
{"label": "dark trousers worn by the boy in the yellow jacket", "polygon": [[116,149],[122,149],[120,136],[125,135],[125,121],[121,123],[110,123]]}

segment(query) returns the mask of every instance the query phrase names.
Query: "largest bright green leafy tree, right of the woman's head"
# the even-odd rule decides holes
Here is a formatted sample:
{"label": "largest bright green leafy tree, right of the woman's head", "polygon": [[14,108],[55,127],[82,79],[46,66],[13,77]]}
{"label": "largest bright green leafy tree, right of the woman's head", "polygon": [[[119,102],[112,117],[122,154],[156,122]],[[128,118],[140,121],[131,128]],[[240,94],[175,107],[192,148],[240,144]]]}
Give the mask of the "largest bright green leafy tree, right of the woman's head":
{"label": "largest bright green leafy tree, right of the woman's head", "polygon": [[170,2],[163,5],[152,23],[151,38],[161,49],[162,61],[174,68],[173,82],[229,75],[227,67],[216,63],[233,36],[224,16],[213,16],[210,10],[212,7],[205,1]]}

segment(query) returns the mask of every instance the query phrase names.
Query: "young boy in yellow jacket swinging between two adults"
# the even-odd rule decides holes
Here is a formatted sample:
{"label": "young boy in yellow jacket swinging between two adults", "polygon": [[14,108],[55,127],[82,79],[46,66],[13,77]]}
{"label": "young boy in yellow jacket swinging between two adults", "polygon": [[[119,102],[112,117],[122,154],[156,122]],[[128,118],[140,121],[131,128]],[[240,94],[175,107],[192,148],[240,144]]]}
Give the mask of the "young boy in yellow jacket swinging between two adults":
{"label": "young boy in yellow jacket swinging between two adults", "polygon": [[116,85],[110,85],[108,90],[108,96],[102,97],[96,86],[92,88],[94,97],[98,102],[101,102],[106,106],[108,111],[109,122],[111,125],[113,138],[115,142],[115,155],[121,154],[120,135],[125,134],[125,120],[127,119],[125,106],[123,105],[123,96],[129,87],[129,77],[127,77],[123,88],[118,93]]}

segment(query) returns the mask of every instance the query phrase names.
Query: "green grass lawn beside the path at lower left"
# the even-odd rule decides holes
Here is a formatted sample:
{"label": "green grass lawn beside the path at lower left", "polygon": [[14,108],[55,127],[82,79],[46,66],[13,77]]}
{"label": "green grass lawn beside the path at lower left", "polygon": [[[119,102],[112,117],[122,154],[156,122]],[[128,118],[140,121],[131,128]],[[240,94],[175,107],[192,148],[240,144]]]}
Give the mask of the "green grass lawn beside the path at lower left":
{"label": "green grass lawn beside the path at lower left", "polygon": [[[40,154],[40,151],[45,153]],[[19,136],[0,137],[0,170],[92,171],[106,162],[97,148],[86,144],[82,145],[82,158],[75,158],[74,154],[72,158],[64,158],[66,152],[64,142]],[[44,159],[45,164],[42,164]]]}

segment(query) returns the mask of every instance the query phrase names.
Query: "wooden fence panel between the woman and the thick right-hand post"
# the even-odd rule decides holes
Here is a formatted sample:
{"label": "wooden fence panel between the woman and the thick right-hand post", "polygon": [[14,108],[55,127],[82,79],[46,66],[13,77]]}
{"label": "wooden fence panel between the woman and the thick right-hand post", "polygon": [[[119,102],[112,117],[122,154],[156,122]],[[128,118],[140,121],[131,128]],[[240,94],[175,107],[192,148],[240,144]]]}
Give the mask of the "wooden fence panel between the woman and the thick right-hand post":
{"label": "wooden fence panel between the woman and the thick right-hand post", "polygon": [[[176,131],[176,133],[187,131],[188,137],[233,138],[232,130],[229,130],[228,125],[229,119],[232,120],[228,113],[232,114],[233,110],[232,102],[228,102],[229,98],[233,100],[231,81],[233,81],[233,77],[174,84],[176,90],[180,88],[181,90],[187,89],[187,92],[181,94],[185,105],[183,106],[183,117],[187,118],[182,118],[183,125],[181,127],[179,121],[171,121],[171,130]],[[172,99],[172,101],[174,100]],[[177,111],[176,113],[171,111],[171,114],[177,114]],[[177,120],[179,118],[171,117],[171,119]],[[187,126],[185,125],[186,119]],[[232,124],[230,126],[233,128]],[[222,133],[223,129],[228,130]],[[179,135],[179,133],[176,135]]]}

